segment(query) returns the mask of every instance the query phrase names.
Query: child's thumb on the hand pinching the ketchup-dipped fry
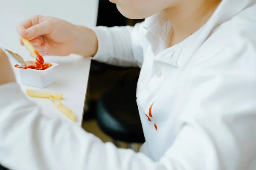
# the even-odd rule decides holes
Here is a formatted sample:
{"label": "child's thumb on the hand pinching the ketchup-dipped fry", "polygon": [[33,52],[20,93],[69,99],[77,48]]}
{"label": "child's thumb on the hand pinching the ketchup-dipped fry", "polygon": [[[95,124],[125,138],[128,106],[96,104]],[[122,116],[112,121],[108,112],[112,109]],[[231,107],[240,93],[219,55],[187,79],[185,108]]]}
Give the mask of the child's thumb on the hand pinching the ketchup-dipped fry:
{"label": "child's thumb on the hand pinching the ketchup-dipped fry", "polygon": [[28,40],[33,40],[41,35],[50,34],[53,30],[53,24],[50,20],[43,21],[35,26],[29,27],[20,32],[20,36]]}

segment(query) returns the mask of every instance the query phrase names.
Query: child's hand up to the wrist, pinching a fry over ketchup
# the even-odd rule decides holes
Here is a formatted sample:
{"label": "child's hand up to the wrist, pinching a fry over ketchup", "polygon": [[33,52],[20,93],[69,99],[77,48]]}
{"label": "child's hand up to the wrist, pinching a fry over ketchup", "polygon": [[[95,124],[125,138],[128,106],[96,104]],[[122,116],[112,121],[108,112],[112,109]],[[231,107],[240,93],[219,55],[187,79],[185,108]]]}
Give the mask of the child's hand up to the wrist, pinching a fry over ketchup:
{"label": "child's hand up to the wrist, pinching a fry over ketchup", "polygon": [[[64,20],[33,16],[17,26],[18,34],[30,40],[41,55],[69,55],[73,51],[74,25]],[[20,44],[23,42],[20,40]]]}

